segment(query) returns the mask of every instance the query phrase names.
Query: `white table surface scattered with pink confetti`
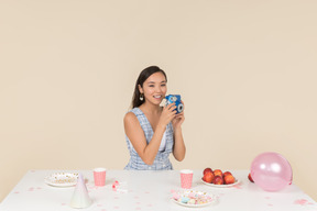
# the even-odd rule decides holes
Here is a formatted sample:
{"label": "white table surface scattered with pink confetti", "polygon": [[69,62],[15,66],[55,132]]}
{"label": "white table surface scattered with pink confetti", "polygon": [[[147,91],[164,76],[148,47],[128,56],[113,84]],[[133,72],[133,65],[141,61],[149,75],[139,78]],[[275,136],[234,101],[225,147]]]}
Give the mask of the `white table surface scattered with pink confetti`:
{"label": "white table surface scattered with pink confetti", "polygon": [[[0,204],[1,211],[76,210],[69,207],[74,187],[57,188],[44,184],[43,178],[62,170],[30,170]],[[266,192],[248,180],[248,170],[231,170],[241,182],[231,188],[212,188],[200,181],[203,170],[194,170],[193,189],[218,196],[218,202],[205,208],[186,208],[170,198],[181,186],[179,171],[108,170],[106,186],[94,186],[91,170],[80,170],[88,180],[87,188],[94,203],[83,210],[215,210],[215,211],[303,211],[317,210],[317,203],[295,185],[278,192]],[[113,191],[118,180],[128,192]],[[120,187],[119,187],[120,188]]]}

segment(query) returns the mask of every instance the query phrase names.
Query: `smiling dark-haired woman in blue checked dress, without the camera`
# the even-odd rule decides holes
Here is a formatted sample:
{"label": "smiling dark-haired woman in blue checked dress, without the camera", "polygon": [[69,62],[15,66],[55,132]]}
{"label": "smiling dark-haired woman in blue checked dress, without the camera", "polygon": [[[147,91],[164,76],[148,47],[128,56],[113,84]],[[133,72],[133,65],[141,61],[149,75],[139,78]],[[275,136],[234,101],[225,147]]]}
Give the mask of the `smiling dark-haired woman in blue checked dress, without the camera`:
{"label": "smiling dark-haired woman in blue checked dress, without the camera", "polygon": [[183,160],[186,147],[182,134],[184,111],[176,114],[175,103],[160,107],[167,91],[165,73],[156,66],[141,71],[132,99],[132,110],[124,116],[130,160],[128,170],[173,169],[170,154]]}

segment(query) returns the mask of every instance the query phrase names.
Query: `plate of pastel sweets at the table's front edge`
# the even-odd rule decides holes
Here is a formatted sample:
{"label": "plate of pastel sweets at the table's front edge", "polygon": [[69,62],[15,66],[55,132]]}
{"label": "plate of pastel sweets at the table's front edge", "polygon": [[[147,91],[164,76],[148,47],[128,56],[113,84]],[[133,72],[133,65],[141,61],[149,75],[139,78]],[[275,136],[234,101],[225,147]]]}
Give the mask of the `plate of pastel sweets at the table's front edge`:
{"label": "plate of pastel sweets at the table's front edge", "polygon": [[201,208],[216,203],[217,197],[205,191],[182,190],[174,192],[171,200],[179,206],[188,208]]}

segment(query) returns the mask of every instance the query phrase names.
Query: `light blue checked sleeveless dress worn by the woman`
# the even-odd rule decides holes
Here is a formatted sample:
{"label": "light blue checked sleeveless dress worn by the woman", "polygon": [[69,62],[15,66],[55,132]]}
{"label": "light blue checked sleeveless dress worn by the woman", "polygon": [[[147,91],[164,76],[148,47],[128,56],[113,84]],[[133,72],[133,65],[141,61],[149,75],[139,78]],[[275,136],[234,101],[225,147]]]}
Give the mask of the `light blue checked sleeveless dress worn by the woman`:
{"label": "light blue checked sleeveless dress worn by the woman", "polygon": [[[138,118],[140,125],[144,132],[146,143],[149,144],[154,134],[152,126],[146,119],[145,114],[139,109],[134,108],[130,112],[134,113]],[[173,140],[173,125],[170,122],[165,131],[166,145],[164,151],[158,151],[154,163],[152,165],[146,165],[142,158],[139,156],[134,147],[132,146],[129,137],[125,135],[125,141],[128,144],[128,149],[130,152],[130,160],[124,167],[125,170],[172,170],[173,166],[170,162],[170,154],[173,151],[174,140]]]}

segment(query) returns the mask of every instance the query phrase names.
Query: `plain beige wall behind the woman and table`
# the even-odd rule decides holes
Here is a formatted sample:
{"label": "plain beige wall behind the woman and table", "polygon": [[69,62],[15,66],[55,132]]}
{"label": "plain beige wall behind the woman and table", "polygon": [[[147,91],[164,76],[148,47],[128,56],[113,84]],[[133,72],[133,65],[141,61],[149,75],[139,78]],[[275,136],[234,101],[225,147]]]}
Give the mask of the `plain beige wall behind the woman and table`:
{"label": "plain beige wall behind the woman and table", "polygon": [[175,169],[272,151],[317,200],[317,1],[1,0],[0,201],[30,169],[122,169],[150,65],[186,104]]}

